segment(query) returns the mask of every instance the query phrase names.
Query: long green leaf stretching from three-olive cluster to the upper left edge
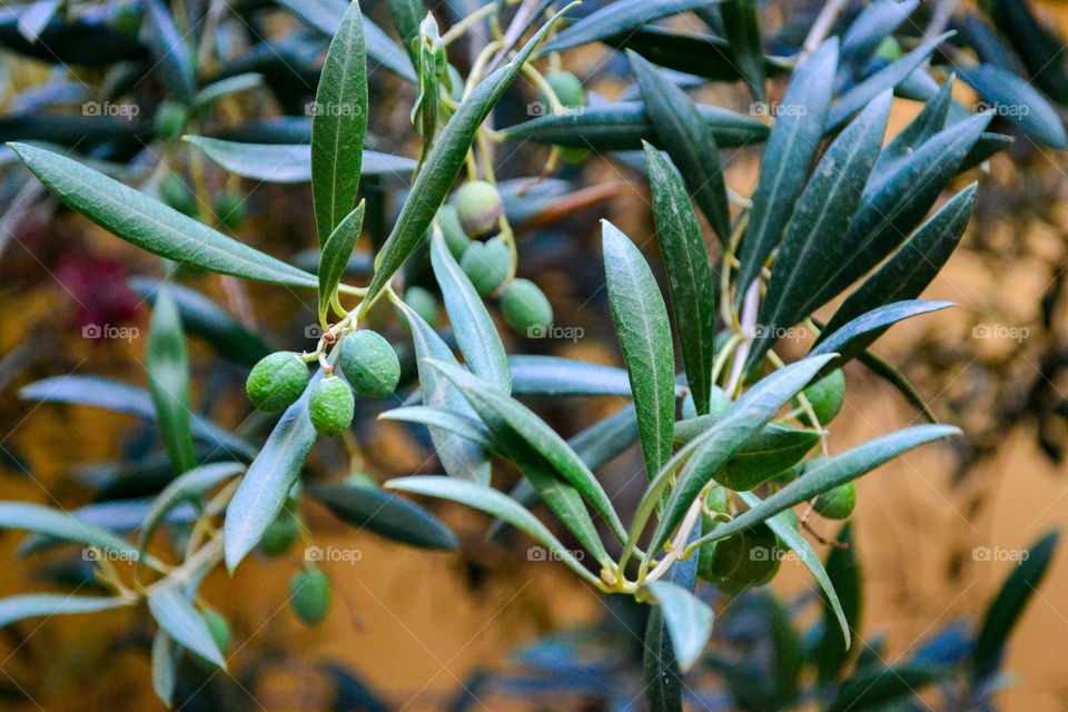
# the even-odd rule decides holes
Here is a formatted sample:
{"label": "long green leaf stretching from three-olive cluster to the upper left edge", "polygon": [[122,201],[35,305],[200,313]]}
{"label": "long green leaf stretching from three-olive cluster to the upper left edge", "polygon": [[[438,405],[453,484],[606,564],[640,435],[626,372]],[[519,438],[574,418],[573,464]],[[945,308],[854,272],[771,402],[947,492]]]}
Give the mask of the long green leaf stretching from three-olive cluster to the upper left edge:
{"label": "long green leaf stretching from three-olive cluster to the upper left edge", "polygon": [[209,271],[294,287],[313,275],[230,239],[76,160],[24,144],[11,147],[52,195],[144,250]]}

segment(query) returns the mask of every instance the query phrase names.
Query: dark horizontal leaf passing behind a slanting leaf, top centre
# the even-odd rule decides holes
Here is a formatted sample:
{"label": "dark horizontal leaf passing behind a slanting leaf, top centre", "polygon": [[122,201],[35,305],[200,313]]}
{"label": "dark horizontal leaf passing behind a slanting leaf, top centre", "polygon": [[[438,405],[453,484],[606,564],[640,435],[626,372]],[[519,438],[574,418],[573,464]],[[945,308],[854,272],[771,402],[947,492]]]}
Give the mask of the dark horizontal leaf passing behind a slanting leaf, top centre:
{"label": "dark horizontal leaf passing behind a slanting leaf, top centre", "polygon": [[[720,148],[759,144],[768,137],[768,126],[755,119],[706,103],[695,106]],[[514,140],[530,138],[571,148],[625,151],[640,149],[643,139],[652,138],[653,127],[644,103],[624,101],[538,117],[502,129],[502,134]]]}

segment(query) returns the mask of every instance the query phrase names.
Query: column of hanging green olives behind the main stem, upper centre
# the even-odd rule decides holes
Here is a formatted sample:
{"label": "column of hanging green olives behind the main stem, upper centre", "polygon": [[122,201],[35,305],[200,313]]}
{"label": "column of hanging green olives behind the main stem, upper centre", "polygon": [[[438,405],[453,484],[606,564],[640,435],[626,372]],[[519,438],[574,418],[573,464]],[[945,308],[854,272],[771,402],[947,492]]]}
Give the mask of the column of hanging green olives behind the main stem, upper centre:
{"label": "column of hanging green olives behind the main stem, upper centre", "polygon": [[[516,334],[538,335],[552,325],[553,306],[530,279],[510,278],[512,250],[497,235],[503,215],[504,201],[497,189],[485,180],[471,180],[437,211],[437,224],[475,291],[483,298],[500,299],[504,320]],[[416,287],[408,289],[405,300],[419,312],[412,300],[413,289]]]}

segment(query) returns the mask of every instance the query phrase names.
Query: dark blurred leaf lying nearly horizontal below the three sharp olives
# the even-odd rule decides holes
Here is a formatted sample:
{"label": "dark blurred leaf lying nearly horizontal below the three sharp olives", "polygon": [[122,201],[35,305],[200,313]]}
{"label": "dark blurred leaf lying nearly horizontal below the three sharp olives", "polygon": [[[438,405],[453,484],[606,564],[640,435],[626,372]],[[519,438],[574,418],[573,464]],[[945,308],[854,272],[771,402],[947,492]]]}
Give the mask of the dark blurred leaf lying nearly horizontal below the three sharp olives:
{"label": "dark blurred leaf lying nearly horizontal below the three sharp olives", "polygon": [[435,516],[392,492],[347,485],[313,485],[307,492],[357,530],[432,551],[451,552],[459,546]]}

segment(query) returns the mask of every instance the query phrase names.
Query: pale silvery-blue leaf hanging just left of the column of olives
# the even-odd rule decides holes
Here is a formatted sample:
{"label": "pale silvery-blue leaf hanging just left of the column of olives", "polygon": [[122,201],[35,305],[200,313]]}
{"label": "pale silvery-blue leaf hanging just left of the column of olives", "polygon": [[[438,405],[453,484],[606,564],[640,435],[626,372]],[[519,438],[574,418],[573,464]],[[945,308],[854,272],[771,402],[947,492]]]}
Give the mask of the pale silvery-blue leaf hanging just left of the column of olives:
{"label": "pale silvery-blue leaf hanging just left of the column of olives", "polygon": [[449,251],[442,231],[436,228],[431,239],[431,265],[467,367],[498,392],[510,394],[512,373],[497,327],[482,297]]}

